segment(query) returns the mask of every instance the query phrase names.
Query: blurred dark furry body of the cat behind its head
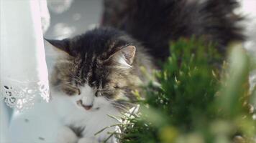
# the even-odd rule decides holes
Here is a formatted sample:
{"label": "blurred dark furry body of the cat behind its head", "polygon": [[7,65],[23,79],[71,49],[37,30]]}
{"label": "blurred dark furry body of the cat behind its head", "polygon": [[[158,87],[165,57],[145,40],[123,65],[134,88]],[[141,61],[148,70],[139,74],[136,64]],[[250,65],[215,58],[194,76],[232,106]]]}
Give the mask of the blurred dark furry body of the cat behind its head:
{"label": "blurred dark furry body of the cat behind its head", "polygon": [[161,61],[180,37],[204,36],[224,55],[230,42],[245,38],[237,7],[236,0],[104,0],[101,26],[126,31]]}

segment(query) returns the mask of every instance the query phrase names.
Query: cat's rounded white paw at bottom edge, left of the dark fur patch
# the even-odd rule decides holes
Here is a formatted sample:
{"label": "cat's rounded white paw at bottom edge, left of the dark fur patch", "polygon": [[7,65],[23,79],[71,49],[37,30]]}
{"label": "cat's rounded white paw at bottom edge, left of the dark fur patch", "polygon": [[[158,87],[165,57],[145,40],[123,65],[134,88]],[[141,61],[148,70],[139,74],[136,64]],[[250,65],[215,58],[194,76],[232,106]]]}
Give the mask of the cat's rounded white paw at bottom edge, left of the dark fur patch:
{"label": "cat's rounded white paw at bottom edge, left of the dark fur patch", "polygon": [[61,127],[57,134],[56,142],[58,143],[77,143],[78,137],[69,127]]}

